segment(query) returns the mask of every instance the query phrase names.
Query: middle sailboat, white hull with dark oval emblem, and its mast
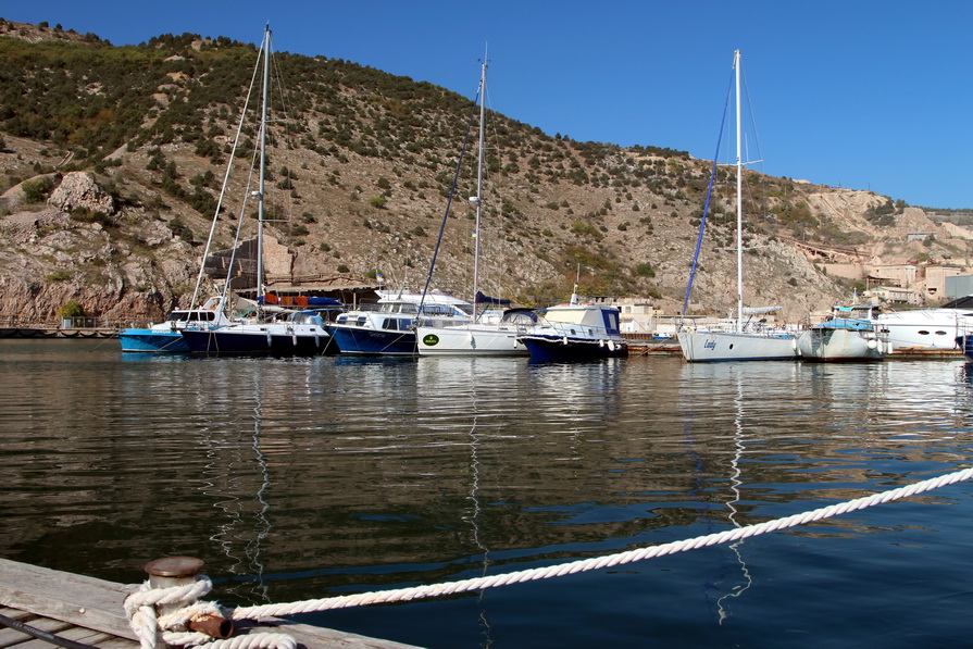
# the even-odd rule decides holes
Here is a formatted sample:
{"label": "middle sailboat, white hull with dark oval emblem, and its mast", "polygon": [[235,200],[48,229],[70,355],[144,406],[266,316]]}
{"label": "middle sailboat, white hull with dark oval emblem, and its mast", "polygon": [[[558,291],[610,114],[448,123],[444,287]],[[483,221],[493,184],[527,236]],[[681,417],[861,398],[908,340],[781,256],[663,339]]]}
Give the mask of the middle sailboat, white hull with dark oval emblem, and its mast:
{"label": "middle sailboat, white hull with dark oval emblem, and its mast", "polygon": [[527,348],[517,339],[537,323],[537,312],[527,308],[499,309],[497,300],[479,290],[481,225],[483,219],[483,170],[486,150],[486,72],[484,55],[479,75],[479,140],[476,163],[476,207],[473,244],[473,319],[434,322],[420,319],[415,340],[420,355],[527,355]]}

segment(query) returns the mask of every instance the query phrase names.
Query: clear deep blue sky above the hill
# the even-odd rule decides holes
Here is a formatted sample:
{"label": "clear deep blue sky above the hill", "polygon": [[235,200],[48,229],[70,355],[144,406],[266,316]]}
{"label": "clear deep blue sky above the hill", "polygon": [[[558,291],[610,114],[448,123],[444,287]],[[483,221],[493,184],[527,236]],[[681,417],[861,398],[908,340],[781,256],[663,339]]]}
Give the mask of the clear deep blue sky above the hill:
{"label": "clear deep blue sky above the hill", "polygon": [[[743,52],[762,171],[973,208],[970,0],[50,0],[0,15],[114,45],[190,32],[354,61],[553,135],[712,159]],[[722,158],[722,155],[721,155]]]}

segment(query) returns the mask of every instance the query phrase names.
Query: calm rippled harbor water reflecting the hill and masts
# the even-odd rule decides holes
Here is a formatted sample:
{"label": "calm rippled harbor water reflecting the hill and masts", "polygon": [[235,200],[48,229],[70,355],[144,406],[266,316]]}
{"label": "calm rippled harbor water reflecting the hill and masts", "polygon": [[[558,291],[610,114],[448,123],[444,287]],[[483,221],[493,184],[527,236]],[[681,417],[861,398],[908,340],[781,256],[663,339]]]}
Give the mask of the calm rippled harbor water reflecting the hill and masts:
{"label": "calm rippled harbor water reflecting the hill and masts", "polygon": [[[973,462],[959,361],[123,355],[0,341],[0,557],[287,602],[553,565]],[[973,485],[733,546],[299,620],[429,648],[969,645]]]}

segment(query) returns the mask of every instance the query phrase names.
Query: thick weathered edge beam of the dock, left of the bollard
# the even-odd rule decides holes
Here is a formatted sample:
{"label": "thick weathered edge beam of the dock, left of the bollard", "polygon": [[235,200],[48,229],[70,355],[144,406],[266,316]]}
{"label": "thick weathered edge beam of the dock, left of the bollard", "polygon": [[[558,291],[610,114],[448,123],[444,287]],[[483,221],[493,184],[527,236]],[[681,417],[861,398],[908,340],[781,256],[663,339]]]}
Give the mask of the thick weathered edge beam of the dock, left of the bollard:
{"label": "thick weathered edge beam of the dock, left of the bollard", "polygon": [[0,604],[136,640],[122,604],[135,586],[0,559]]}

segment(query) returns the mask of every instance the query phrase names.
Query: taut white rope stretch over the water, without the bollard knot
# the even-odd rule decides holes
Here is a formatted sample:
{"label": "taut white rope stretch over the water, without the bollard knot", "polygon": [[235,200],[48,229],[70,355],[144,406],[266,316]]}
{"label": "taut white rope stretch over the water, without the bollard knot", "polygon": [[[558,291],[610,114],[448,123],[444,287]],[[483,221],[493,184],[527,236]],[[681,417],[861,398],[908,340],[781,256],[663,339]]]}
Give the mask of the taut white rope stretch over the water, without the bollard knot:
{"label": "taut white rope stretch over the water, without the bollard knot", "polygon": [[573,561],[548,567],[536,567],[502,575],[494,575],[489,577],[478,577],[473,579],[463,579],[459,582],[449,582],[446,584],[434,584],[429,586],[414,586],[411,588],[399,588],[395,590],[381,590],[375,592],[362,592],[358,595],[347,595],[341,597],[332,597],[324,599],[310,599],[284,604],[264,604],[259,607],[246,607],[236,609],[233,612],[234,620],[260,620],[265,617],[295,615],[298,613],[311,613],[314,611],[327,611],[332,609],[342,609],[350,607],[363,607],[376,603],[388,603],[394,601],[411,601],[424,597],[440,597],[444,595],[454,595],[457,592],[467,592],[471,590],[481,590],[484,588],[492,588],[495,586],[508,586],[511,584],[520,584],[523,582],[532,582],[536,579],[546,579],[549,577],[560,577],[563,575],[572,575],[579,572],[600,570],[641,561],[644,559],[652,559],[654,557],[663,557],[685,550],[695,550],[708,546],[725,544],[729,541],[749,538],[766,534],[769,532],[777,532],[789,527],[796,527],[806,523],[822,521],[839,514],[858,511],[875,504],[883,504],[894,500],[909,498],[923,491],[952,485],[959,482],[968,480],[973,477],[973,467],[964,469],[956,473],[950,473],[936,478],[931,478],[921,483],[915,483],[898,489],[891,489],[881,494],[873,494],[856,500],[849,500],[838,504],[831,504],[821,509],[795,514],[784,519],[776,519],[756,525],[746,527],[736,527],[720,532],[699,536],[688,540],[675,541],[661,546],[652,546],[640,548],[638,550],[629,550],[618,554],[609,554],[606,557],[596,557],[582,561]]}

